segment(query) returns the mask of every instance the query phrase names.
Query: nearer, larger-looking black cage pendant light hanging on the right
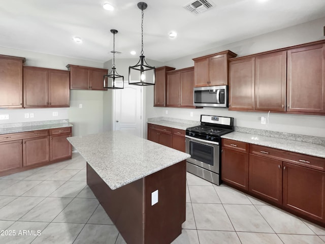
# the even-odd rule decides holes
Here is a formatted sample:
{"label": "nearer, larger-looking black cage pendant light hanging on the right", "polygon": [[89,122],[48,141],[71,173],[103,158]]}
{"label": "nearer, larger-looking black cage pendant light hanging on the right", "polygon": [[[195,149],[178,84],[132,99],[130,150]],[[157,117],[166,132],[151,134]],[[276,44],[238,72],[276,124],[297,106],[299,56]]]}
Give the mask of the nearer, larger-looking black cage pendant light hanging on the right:
{"label": "nearer, larger-looking black cage pendant light hanging on the right", "polygon": [[138,64],[128,67],[128,83],[131,85],[154,85],[155,68],[148,65],[143,55],[143,10],[148,7],[146,3],[138,3],[141,9],[141,55]]}

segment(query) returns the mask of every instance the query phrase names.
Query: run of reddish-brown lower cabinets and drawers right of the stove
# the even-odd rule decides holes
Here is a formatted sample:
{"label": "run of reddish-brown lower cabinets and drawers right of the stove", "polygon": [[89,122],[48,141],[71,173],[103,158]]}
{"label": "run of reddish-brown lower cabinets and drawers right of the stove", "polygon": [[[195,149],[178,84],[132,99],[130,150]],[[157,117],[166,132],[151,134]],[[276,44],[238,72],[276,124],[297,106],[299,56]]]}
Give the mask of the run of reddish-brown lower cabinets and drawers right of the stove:
{"label": "run of reddish-brown lower cabinets and drawers right of the stove", "polygon": [[325,226],[325,159],[242,143],[222,139],[222,180]]}

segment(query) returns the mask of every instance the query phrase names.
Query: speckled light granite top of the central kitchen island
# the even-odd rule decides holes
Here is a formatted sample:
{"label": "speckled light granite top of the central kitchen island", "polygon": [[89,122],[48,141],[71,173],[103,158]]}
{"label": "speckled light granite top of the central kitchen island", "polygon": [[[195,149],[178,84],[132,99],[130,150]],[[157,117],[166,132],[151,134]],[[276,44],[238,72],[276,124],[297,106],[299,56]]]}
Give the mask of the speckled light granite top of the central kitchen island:
{"label": "speckled light granite top of the central kitchen island", "polygon": [[68,137],[68,141],[112,190],[190,157],[121,131]]}

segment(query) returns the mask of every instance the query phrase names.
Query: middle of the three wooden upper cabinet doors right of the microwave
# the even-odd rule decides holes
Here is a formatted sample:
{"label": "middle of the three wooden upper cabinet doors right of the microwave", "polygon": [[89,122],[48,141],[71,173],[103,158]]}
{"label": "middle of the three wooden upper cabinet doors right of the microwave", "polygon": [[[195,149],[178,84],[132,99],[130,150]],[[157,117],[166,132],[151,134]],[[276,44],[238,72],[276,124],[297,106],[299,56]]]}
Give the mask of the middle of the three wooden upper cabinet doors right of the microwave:
{"label": "middle of the three wooden upper cabinet doors right of the microwave", "polygon": [[286,51],[255,57],[255,109],[285,111]]}

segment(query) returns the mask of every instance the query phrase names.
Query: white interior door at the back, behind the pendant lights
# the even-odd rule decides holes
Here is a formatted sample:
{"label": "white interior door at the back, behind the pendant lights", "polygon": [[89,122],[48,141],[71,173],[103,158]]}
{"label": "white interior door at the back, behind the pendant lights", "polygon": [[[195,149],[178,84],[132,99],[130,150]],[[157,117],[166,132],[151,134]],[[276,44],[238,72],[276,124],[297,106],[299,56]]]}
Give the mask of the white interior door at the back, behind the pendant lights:
{"label": "white interior door at the back, behind the pendant lights", "polygon": [[142,87],[124,83],[113,91],[113,130],[142,137]]}

